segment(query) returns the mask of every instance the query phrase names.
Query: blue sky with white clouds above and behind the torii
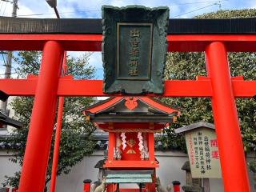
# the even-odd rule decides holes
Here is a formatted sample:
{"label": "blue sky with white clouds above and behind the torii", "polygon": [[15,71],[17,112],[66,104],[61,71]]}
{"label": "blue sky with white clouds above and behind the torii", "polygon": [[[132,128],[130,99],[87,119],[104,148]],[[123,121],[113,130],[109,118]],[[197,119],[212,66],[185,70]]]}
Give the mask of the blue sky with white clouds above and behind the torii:
{"label": "blue sky with white clouds above and behind the torii", "polygon": [[[0,0],[0,16],[11,16],[13,0]],[[217,10],[241,10],[256,8],[256,0],[57,0],[61,18],[101,18],[102,5],[148,7],[169,6],[170,18],[193,18]],[[56,18],[54,10],[46,0],[18,0],[19,18]],[[69,52],[78,57],[82,52]],[[4,62],[0,55],[0,78],[4,74]],[[90,65],[97,69],[96,78],[102,78],[102,55],[94,52],[90,56]],[[15,67],[15,65],[14,65]],[[14,70],[12,71],[14,73]],[[12,74],[15,78],[15,74]]]}

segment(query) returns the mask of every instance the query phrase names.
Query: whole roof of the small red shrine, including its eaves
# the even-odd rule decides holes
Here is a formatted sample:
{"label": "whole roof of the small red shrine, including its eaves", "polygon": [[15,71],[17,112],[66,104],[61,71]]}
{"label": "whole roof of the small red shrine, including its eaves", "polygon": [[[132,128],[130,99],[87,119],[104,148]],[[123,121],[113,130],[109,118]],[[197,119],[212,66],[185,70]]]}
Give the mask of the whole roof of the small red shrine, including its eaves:
{"label": "whole roof of the small red shrine, including its eaves", "polygon": [[[94,122],[102,130],[115,131],[133,129],[148,129],[151,123],[152,130],[161,130],[167,123],[175,122],[180,112],[153,98],[136,96],[118,96],[108,98],[87,107],[82,111],[86,121]],[[153,123],[153,124],[152,124]],[[122,128],[122,130],[120,130]]]}

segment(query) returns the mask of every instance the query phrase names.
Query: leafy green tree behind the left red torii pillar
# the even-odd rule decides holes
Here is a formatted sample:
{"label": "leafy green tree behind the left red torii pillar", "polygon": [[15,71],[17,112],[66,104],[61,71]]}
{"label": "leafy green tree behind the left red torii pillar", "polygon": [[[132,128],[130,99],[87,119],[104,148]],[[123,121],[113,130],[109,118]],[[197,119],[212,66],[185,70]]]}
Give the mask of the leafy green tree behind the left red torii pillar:
{"label": "leafy green tree behind the left red torii pillar", "polygon": [[[88,65],[89,55],[90,54],[85,54],[81,58],[68,57],[67,74],[72,74],[76,79],[94,78],[95,69]],[[27,74],[38,74],[40,60],[40,52],[19,52],[18,58],[14,58],[14,61],[18,64],[18,76],[20,78],[26,78]],[[31,97],[16,97],[11,103],[15,111],[15,117],[18,121],[23,123],[24,128],[14,130],[11,137],[8,138],[6,142],[11,146],[10,152],[14,155],[10,160],[18,163],[20,166],[22,166],[23,156],[25,153],[33,100],[34,98]],[[94,150],[94,142],[91,140],[90,135],[94,132],[95,127],[91,123],[85,122],[82,115],[82,109],[89,106],[91,102],[92,98],[65,98],[62,114],[62,134],[59,148],[57,175],[68,174],[72,166],[81,162],[85,155],[92,154]],[[54,138],[55,131],[52,136],[49,165],[46,173],[46,183],[50,181]],[[4,185],[18,186],[19,175],[20,172],[15,173],[14,177],[6,176],[7,179]]]}

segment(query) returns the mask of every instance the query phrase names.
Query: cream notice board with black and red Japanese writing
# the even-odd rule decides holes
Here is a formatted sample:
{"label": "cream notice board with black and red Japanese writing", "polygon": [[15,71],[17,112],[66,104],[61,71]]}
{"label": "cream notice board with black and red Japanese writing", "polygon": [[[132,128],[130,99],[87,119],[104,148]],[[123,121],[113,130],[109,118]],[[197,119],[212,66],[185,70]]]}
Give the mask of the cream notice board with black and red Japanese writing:
{"label": "cream notice board with black and red Japanese writing", "polygon": [[222,178],[215,131],[198,128],[187,131],[185,137],[192,177]]}

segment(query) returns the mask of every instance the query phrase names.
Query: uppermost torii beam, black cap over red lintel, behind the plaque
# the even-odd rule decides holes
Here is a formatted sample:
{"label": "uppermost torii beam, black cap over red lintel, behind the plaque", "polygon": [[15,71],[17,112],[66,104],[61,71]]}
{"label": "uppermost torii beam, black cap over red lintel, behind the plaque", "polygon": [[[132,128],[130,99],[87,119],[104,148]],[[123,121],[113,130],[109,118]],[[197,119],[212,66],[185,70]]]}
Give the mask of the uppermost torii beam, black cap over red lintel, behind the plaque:
{"label": "uppermost torii beam, black cap over red lintel, behind the plaque", "polygon": [[[256,51],[256,18],[169,19],[168,51],[204,51],[223,42],[227,51]],[[64,50],[101,51],[102,19],[0,18],[0,50],[42,50],[46,41]]]}

